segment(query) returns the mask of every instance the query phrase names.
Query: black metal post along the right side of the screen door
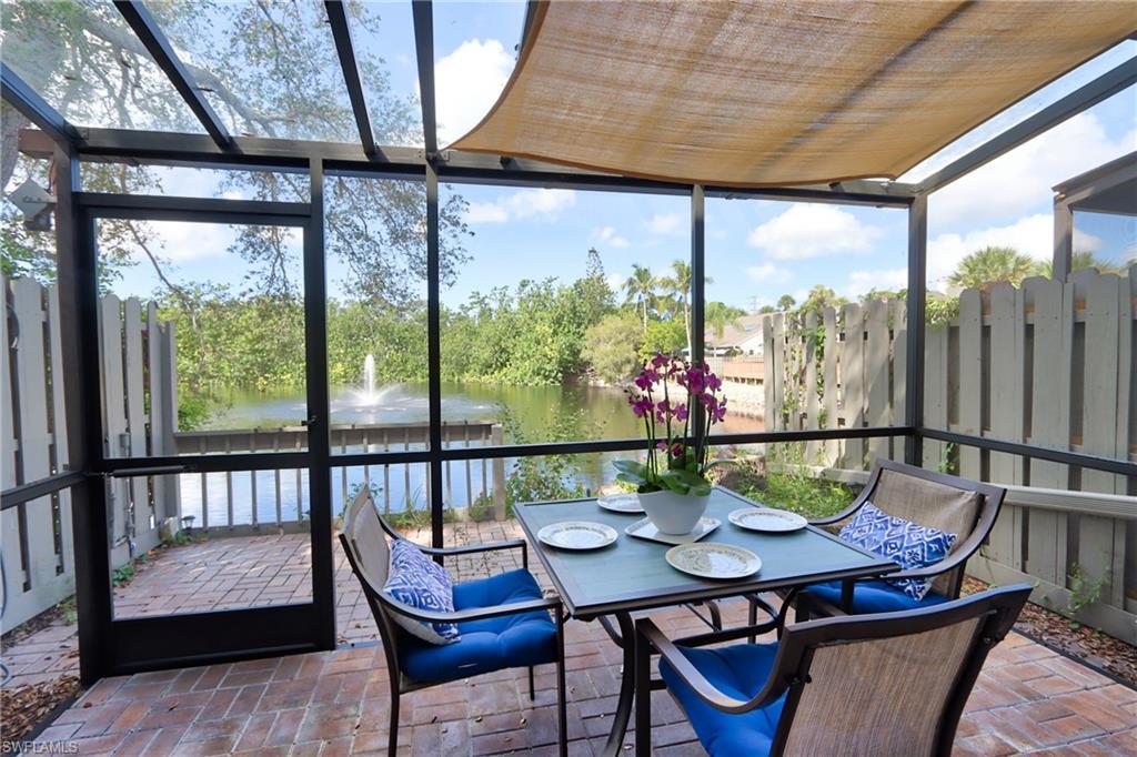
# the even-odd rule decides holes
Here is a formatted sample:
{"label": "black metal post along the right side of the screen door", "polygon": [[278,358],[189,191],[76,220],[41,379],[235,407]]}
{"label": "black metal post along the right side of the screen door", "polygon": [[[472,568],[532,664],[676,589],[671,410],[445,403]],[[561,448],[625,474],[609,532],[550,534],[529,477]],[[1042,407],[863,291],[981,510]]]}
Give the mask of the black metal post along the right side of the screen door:
{"label": "black metal post along the right side of the screen door", "polygon": [[[327,390],[327,272],[324,259],[324,166],[308,169],[310,215],[304,230],[304,322],[308,384],[308,507],[312,517],[312,598],[316,638],[335,648],[335,584],[332,569],[332,472]],[[256,505],[254,505],[256,507]]]}

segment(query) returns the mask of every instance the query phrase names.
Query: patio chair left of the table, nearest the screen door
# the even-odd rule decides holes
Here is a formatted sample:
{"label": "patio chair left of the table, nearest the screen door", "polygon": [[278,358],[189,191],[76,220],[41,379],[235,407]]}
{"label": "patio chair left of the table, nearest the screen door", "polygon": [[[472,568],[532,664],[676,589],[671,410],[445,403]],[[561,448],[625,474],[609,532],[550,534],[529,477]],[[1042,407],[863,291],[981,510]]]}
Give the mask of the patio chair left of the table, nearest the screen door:
{"label": "patio chair left of the table, nearest the screen door", "polygon": [[[521,549],[522,565],[489,579],[454,585],[454,612],[422,610],[393,599],[383,591],[390,548],[384,532],[400,539],[379,515],[366,489],[347,509],[340,542],[359,580],[379,626],[391,684],[390,754],[396,754],[399,733],[400,694],[511,667],[529,668],[529,698],[534,698],[533,666],[557,666],[558,748],[567,755],[565,713],[564,612],[559,598],[543,598],[529,572],[524,540],[450,547],[420,547],[438,559],[501,549]],[[549,617],[549,613],[553,617]],[[455,623],[460,638],[435,646],[414,638],[393,619],[399,614],[426,623]]]}

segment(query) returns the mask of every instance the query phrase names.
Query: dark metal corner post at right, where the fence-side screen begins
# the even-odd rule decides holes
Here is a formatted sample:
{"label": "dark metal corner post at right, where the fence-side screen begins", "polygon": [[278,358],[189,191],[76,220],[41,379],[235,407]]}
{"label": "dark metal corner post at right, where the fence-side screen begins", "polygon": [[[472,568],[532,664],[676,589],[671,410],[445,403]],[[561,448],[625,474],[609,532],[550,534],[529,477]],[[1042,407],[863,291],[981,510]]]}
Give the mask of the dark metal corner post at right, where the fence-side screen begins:
{"label": "dark metal corner post at right, where the fence-side screen begins", "polygon": [[907,368],[904,388],[904,425],[915,431],[904,438],[904,461],[923,463],[924,330],[928,327],[928,197],[918,194],[908,208]]}

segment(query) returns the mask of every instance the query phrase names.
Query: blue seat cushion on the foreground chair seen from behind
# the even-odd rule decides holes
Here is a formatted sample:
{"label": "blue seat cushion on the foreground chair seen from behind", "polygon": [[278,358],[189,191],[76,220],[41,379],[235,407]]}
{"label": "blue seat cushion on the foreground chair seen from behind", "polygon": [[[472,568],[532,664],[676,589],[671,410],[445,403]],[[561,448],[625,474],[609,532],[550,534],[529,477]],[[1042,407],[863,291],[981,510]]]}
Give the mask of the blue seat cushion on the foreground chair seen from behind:
{"label": "blue seat cushion on the foreground chair seen from behind", "polygon": [[[717,649],[680,647],[679,650],[724,694],[750,699],[765,687],[778,655],[778,644],[735,644]],[[742,715],[730,715],[703,701],[666,660],[659,660],[659,674],[683,706],[691,727],[708,755],[761,757],[770,754],[770,744],[786,702],[785,694],[766,707]]]}

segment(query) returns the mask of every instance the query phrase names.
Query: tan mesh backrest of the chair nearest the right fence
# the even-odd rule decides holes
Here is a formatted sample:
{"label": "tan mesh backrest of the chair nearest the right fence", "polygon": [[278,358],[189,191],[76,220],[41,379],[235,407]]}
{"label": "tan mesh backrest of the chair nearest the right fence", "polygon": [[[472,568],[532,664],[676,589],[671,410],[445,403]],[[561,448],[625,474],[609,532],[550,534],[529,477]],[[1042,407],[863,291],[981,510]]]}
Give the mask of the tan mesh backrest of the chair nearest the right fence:
{"label": "tan mesh backrest of the chair nearest the right fence", "polygon": [[[1002,486],[879,459],[860,499],[871,501],[889,515],[956,534],[948,552],[954,555],[970,546],[968,538],[977,530],[986,538],[1005,496]],[[932,590],[955,598],[962,583],[961,567],[937,576]]]}

